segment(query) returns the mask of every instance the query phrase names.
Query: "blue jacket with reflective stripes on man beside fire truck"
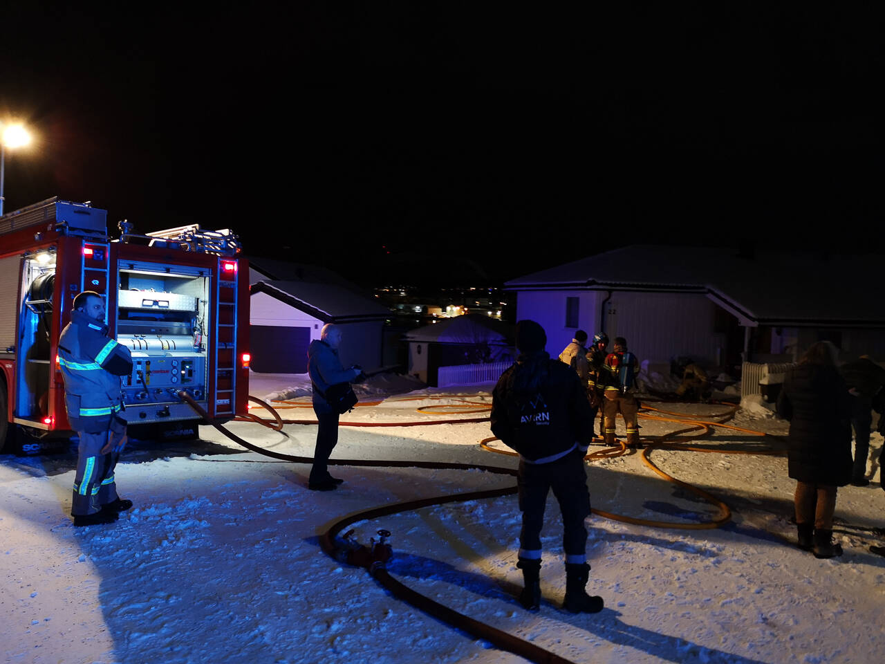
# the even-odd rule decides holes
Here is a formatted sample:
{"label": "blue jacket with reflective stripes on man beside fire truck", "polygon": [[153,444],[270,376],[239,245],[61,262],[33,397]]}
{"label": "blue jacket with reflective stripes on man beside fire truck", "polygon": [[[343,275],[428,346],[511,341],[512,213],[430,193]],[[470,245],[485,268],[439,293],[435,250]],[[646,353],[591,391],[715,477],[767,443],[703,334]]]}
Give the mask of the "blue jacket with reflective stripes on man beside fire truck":
{"label": "blue jacket with reflective stripes on man beside fire truck", "polygon": [[126,346],[107,337],[107,328],[73,311],[58,337],[58,366],[65,377],[67,419],[76,431],[108,428],[122,409],[120,376],[132,373]]}

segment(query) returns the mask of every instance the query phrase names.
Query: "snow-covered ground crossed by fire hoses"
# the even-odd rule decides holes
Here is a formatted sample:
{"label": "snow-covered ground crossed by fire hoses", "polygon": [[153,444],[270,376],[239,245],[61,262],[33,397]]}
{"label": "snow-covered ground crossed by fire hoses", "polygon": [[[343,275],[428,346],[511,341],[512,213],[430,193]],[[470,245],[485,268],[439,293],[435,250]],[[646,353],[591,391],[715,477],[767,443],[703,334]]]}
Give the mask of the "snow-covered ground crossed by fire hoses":
{"label": "snow-covered ground crossed by fire hoses", "polygon": [[[381,379],[379,379],[381,380]],[[472,415],[425,414],[422,405],[489,402],[491,385],[419,390],[390,380],[361,389],[380,405],[347,419],[415,421]],[[254,375],[252,394],[309,393],[304,376]],[[399,394],[396,394],[399,392]],[[403,400],[405,396],[418,398]],[[431,398],[434,397],[434,398]],[[650,404],[710,416],[721,405]],[[760,403],[729,424],[784,434]],[[444,409],[443,409],[444,410]],[[309,408],[281,410],[289,419]],[[643,419],[644,435],[685,425]],[[253,423],[238,435],[277,452],[309,456],[315,428],[289,425],[289,438]],[[513,483],[479,471],[333,467],[345,483],[306,489],[309,467],[245,452],[214,429],[209,443],[134,445],[118,467],[121,494],[135,507],[110,526],[73,529],[68,512],[73,455],[0,457],[0,627],[7,662],[515,662],[390,596],[366,570],[345,567],[318,536],[342,516],[415,498]],[[514,467],[485,452],[488,423],[412,428],[342,428],[333,458],[425,459]],[[768,440],[734,429],[694,439],[699,446]],[[873,435],[873,458],[881,453]],[[595,448],[591,448],[591,452]],[[598,448],[596,448],[598,449]],[[184,452],[181,452],[183,450]],[[165,454],[168,452],[168,456]],[[574,662],[868,662],[885,647],[885,558],[873,529],[885,523],[878,484],[839,490],[836,537],[845,553],[817,560],[790,544],[794,483],[786,459],[762,455],[652,452],[674,477],[712,492],[733,511],[720,529],[588,521],[589,591],[604,612],[567,614],[558,508],[550,497],[543,531],[544,603],[539,614],[512,598],[519,510],[508,496],[432,506],[361,521],[367,541],[393,532],[391,575],[435,600]],[[668,483],[640,455],[588,466],[593,506],[643,519],[698,523],[716,508]],[[880,654],[876,654],[879,652]]]}

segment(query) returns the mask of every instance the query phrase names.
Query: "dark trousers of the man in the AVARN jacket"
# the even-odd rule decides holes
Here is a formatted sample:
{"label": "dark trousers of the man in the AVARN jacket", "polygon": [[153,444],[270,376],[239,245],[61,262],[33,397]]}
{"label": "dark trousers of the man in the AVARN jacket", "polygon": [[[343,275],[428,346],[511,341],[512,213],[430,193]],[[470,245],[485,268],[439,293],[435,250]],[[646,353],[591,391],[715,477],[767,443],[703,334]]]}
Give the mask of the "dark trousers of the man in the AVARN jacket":
{"label": "dark trousers of the man in the AVARN jacket", "polygon": [[587,528],[584,526],[584,519],[590,513],[590,494],[581,452],[572,452],[550,463],[531,464],[519,461],[517,484],[519,509],[522,511],[519,557],[541,559],[544,507],[547,504],[547,494],[552,489],[562,512],[566,562],[585,562]]}

